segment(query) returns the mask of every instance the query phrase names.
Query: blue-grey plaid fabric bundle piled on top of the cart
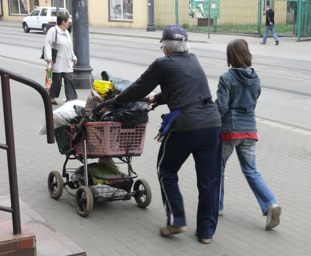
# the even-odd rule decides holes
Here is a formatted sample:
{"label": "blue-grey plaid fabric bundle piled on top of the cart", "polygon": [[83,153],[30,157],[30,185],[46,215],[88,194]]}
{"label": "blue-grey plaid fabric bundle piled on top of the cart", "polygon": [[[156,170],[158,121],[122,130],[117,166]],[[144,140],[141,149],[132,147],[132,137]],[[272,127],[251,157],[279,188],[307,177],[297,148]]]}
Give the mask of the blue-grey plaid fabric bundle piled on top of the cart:
{"label": "blue-grey plaid fabric bundle piled on top of the cart", "polygon": [[[101,72],[101,79],[103,81],[111,81],[113,83],[113,92],[112,94],[107,97],[106,99],[113,99],[116,95],[123,92],[125,88],[127,88],[129,85],[132,84],[131,81],[115,77],[113,75],[110,75],[107,71]],[[117,106],[116,106],[117,105]],[[109,106],[110,107],[110,106]],[[126,108],[126,109],[142,109],[148,111],[148,103],[147,102],[132,102],[130,105],[127,104],[114,104],[114,108]]]}

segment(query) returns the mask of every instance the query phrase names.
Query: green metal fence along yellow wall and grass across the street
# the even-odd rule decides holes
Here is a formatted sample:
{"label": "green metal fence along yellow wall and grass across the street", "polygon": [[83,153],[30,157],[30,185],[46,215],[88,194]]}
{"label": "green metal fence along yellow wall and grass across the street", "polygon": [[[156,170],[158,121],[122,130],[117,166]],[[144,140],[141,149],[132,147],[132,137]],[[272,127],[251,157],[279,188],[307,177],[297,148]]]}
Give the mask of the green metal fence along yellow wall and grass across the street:
{"label": "green metal fence along yellow wall and grass across the street", "polygon": [[[219,0],[220,18],[193,18],[193,0],[155,0],[157,28],[179,24],[188,31],[260,34],[265,31],[266,6],[275,11],[274,29],[278,36],[311,35],[311,0]],[[208,0],[196,0],[208,3]],[[210,0],[211,2],[215,2]]]}

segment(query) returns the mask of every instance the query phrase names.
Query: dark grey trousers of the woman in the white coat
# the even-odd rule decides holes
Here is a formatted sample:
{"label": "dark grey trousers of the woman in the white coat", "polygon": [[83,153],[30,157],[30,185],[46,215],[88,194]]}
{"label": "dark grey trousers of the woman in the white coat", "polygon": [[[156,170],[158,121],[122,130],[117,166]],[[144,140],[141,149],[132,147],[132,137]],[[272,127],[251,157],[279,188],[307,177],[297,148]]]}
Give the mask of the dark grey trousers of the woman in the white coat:
{"label": "dark grey trousers of the woman in the white coat", "polygon": [[77,92],[75,87],[73,86],[72,82],[72,72],[70,73],[55,73],[53,72],[52,75],[52,84],[50,90],[50,98],[58,98],[60,94],[60,89],[62,88],[62,79],[64,78],[64,85],[65,85],[65,95],[66,100],[76,99],[78,98]]}

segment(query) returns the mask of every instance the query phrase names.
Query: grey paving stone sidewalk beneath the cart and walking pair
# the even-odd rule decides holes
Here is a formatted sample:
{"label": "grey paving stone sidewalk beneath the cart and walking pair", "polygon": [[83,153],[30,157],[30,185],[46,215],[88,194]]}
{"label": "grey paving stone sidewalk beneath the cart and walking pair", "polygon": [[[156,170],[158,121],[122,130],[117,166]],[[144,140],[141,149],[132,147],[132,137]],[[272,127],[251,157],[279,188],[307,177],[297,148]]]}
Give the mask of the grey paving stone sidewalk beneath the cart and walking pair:
{"label": "grey paving stone sidewalk beneath the cart and walking pair", "polygon": [[[0,62],[0,66],[26,74],[43,85],[44,67],[3,58]],[[77,94],[79,100],[86,101],[89,90],[78,90]],[[57,144],[47,144],[46,136],[36,133],[44,120],[41,97],[29,86],[12,80],[11,95],[19,196],[88,256],[311,255],[311,132],[287,126],[285,129],[258,120],[258,170],[282,207],[281,223],[275,229],[265,230],[266,217],[262,216],[234,153],[225,174],[225,213],[219,217],[211,244],[203,245],[194,235],[198,192],[193,158],[179,171],[189,230],[169,237],[159,233],[166,224],[166,216],[156,173],[160,144],[153,138],[161,122],[160,115],[167,112],[164,106],[150,112],[144,153],[133,158],[133,169],[151,186],[150,206],[139,208],[134,199],[99,203],[88,217],[81,217],[77,214],[74,197],[65,190],[58,200],[49,195],[49,172],[61,171],[65,157],[59,153]],[[54,110],[65,103],[62,98],[65,98],[63,88]],[[0,116],[3,120],[3,107],[0,107]],[[0,139],[4,143],[3,122],[0,127]],[[0,161],[0,196],[7,196],[5,151],[0,151]],[[68,163],[68,167],[79,166],[81,163],[75,160]]]}

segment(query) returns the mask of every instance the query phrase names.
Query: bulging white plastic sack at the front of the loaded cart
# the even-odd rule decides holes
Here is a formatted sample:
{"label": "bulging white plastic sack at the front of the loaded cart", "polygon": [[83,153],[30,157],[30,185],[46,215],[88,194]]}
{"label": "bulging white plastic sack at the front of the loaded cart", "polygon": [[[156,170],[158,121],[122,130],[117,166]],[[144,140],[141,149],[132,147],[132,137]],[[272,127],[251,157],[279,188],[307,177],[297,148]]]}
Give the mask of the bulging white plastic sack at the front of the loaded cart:
{"label": "bulging white plastic sack at the front of the loaded cart", "polygon": [[[85,107],[86,101],[83,100],[73,100],[66,102],[63,106],[55,109],[53,111],[53,118],[54,118],[54,129],[67,125],[68,122],[66,121],[66,117],[76,117],[76,111],[73,108],[74,105],[79,105]],[[46,124],[45,119],[42,121],[42,124],[37,131],[38,135],[45,135],[46,134]]]}

